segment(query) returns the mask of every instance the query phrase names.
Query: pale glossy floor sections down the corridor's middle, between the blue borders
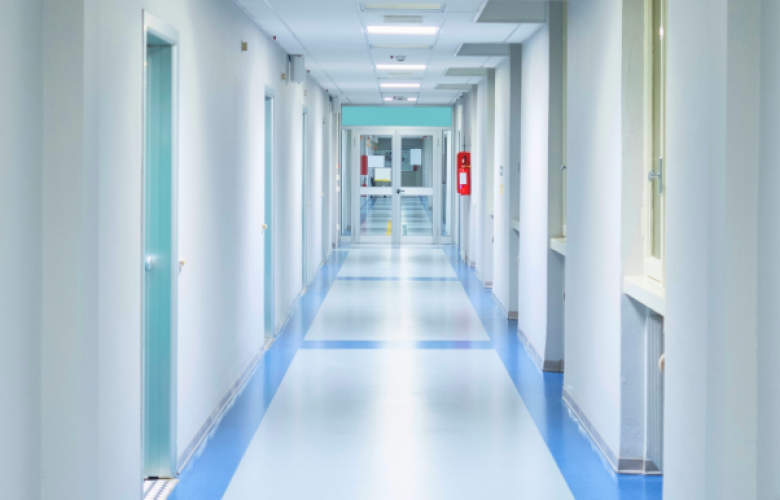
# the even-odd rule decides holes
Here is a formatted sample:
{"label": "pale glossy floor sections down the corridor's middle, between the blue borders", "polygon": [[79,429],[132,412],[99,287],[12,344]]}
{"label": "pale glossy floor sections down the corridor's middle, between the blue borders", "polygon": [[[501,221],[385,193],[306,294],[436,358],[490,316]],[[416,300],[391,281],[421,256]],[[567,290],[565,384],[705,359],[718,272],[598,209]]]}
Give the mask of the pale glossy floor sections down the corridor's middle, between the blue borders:
{"label": "pale glossy floor sections down the corridor's middle, between the blue borders", "polygon": [[349,347],[487,340],[442,259],[350,250],[305,337],[342,342],[295,354],[225,499],[573,498],[495,350]]}

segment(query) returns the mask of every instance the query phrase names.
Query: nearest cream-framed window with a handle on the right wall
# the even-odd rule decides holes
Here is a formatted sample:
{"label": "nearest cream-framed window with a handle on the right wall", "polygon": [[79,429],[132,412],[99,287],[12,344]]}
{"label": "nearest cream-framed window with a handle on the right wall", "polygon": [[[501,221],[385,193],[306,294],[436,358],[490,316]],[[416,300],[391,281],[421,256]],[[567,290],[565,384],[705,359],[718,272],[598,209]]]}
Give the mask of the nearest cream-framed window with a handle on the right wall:
{"label": "nearest cream-framed window with a handle on the right wall", "polygon": [[645,274],[663,283],[666,164],[666,0],[648,0],[647,191],[645,203]]}

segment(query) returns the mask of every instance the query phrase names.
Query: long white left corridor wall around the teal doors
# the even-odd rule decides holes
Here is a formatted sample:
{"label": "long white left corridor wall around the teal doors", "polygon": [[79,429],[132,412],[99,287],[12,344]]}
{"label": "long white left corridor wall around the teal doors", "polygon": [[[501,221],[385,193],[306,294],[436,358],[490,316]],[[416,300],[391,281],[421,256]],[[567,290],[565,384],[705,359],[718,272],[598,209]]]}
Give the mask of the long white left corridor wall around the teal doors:
{"label": "long white left corridor wall around the teal doors", "polygon": [[306,99],[304,85],[283,82],[287,55],[231,2],[43,0],[9,8],[2,62],[14,78],[0,82],[0,147],[11,160],[0,168],[0,317],[9,333],[0,369],[3,381],[16,382],[0,385],[13,408],[0,423],[14,430],[2,438],[12,460],[0,467],[9,475],[4,491],[135,500],[142,9],[180,34],[179,248],[187,265],[179,283],[179,454],[263,345],[265,89],[277,103],[280,320],[302,287],[304,102],[312,120],[312,271],[327,253],[320,221],[328,98],[312,80]]}

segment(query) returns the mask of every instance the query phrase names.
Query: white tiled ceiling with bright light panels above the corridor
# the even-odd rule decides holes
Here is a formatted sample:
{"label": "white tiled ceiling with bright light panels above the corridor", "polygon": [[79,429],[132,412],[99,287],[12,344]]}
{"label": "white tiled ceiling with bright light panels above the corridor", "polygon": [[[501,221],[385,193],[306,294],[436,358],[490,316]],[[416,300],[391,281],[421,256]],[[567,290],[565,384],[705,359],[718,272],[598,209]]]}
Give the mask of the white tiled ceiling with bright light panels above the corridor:
{"label": "white tiled ceiling with bright light panels above the corridor", "polygon": [[[501,57],[456,56],[463,43],[521,43],[541,24],[474,22],[488,0],[441,0],[443,11],[419,13],[388,10],[364,12],[368,3],[432,3],[435,0],[234,0],[290,54],[306,56],[306,69],[345,104],[385,104],[383,97],[418,97],[418,105],[452,104],[463,90],[437,90],[438,84],[476,84],[479,76],[444,76],[449,68],[493,68]],[[490,0],[506,2],[507,0]],[[525,0],[509,0],[522,4]],[[369,35],[365,27],[387,25],[384,15],[422,15],[423,26],[438,26],[436,36]],[[392,24],[391,24],[392,25]],[[403,24],[414,26],[414,24]],[[416,24],[419,26],[420,24]],[[381,44],[424,44],[425,49],[372,48]],[[375,64],[393,64],[390,56],[406,56],[404,64],[425,64],[426,71],[409,77],[376,70]],[[408,73],[407,73],[408,74]],[[381,90],[379,83],[419,82],[413,92]],[[398,105],[390,103],[390,105]]]}

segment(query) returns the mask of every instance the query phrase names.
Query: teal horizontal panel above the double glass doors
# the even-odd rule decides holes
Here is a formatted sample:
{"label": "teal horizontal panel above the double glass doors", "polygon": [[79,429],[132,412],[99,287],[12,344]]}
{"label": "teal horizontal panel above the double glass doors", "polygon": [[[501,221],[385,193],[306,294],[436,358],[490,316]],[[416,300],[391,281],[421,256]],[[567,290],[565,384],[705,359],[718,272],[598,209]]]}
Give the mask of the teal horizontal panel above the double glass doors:
{"label": "teal horizontal panel above the double glass doors", "polygon": [[451,127],[452,108],[411,106],[344,106],[344,127]]}

